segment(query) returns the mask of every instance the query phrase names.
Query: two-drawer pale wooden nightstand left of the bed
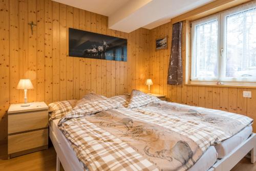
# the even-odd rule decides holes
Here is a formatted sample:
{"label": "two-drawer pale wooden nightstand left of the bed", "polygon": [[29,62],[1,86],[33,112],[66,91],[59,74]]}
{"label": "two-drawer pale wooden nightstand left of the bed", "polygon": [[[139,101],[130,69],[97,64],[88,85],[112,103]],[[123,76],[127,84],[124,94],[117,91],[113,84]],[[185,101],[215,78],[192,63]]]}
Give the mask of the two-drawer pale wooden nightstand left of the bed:
{"label": "two-drawer pale wooden nightstand left of the bed", "polygon": [[45,102],[20,105],[11,104],[8,110],[9,158],[48,148],[48,106]]}

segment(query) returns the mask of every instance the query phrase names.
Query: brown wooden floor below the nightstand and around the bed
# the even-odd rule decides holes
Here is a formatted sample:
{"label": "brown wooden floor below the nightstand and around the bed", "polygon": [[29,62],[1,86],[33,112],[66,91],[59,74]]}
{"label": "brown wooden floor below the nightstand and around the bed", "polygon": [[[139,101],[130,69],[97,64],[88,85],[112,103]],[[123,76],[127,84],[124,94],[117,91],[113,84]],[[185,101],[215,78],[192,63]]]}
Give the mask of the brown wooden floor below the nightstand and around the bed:
{"label": "brown wooden floor below the nightstand and around the bed", "polygon": [[[12,158],[10,160],[0,159],[1,171],[27,171],[27,170],[56,170],[56,152],[51,146],[40,152]],[[61,168],[63,171],[64,169]],[[256,163],[251,164],[250,159],[242,159],[232,171],[254,171]]]}

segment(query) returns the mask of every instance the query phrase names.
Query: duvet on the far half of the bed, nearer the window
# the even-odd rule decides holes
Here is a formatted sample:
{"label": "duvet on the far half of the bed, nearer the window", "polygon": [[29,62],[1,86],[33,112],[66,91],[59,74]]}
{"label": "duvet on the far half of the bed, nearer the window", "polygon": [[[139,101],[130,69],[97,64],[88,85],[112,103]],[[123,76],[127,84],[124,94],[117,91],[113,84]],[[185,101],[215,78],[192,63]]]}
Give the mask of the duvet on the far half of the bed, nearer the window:
{"label": "duvet on the far half of the bed, nearer the window", "polygon": [[[176,131],[183,135],[187,134],[187,136],[191,134],[197,135],[196,137],[198,137],[204,145],[207,143],[210,143],[210,145],[219,144],[221,141],[240,132],[244,127],[251,125],[253,122],[253,119],[239,114],[166,101],[153,102],[134,108],[133,110],[158,118],[178,119],[183,123],[177,126]],[[190,123],[206,125],[206,127],[203,128],[206,132],[202,135],[198,135],[200,132],[195,132],[198,126],[188,127]],[[208,131],[216,135],[215,141],[206,142],[206,139],[203,138],[203,135],[210,135],[207,133]],[[203,149],[205,148],[207,148],[207,145]]]}

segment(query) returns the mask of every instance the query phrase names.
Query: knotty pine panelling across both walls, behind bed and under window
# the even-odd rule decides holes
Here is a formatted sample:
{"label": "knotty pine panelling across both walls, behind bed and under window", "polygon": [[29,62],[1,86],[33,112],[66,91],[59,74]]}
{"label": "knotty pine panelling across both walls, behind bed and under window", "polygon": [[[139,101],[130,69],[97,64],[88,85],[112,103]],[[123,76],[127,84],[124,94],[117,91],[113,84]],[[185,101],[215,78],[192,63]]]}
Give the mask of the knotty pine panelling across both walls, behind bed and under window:
{"label": "knotty pine panelling across both walls, behind bed and under window", "polygon": [[[79,99],[90,92],[107,97],[132,89],[147,92],[144,82],[150,77],[154,82],[152,93],[164,94],[170,101],[256,119],[256,89],[167,85],[171,23],[127,34],[108,29],[106,16],[50,0],[3,0],[0,16],[0,144],[7,137],[6,111],[10,103],[24,99],[24,92],[16,90],[20,78],[32,80],[34,89],[28,91],[29,101],[50,103]],[[37,24],[33,35],[28,25],[31,21]],[[127,62],[69,57],[69,27],[127,38]],[[183,63],[187,53],[184,33],[185,27]],[[166,35],[168,49],[156,51],[156,38]],[[244,90],[251,91],[252,98],[243,98]],[[253,127],[255,131],[255,124]]]}

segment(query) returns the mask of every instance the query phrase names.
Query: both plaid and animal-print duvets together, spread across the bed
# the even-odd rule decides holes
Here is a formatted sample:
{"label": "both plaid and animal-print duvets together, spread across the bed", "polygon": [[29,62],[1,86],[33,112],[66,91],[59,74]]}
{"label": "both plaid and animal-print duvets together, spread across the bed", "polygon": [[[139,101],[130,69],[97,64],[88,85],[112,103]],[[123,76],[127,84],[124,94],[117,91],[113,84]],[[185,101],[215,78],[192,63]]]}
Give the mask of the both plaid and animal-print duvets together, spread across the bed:
{"label": "both plaid and animal-print duvets together, spread across the bed", "polygon": [[245,116],[145,95],[144,100],[135,99],[146,105],[136,106],[132,98],[132,109],[129,105],[118,108],[108,100],[84,103],[59,121],[59,129],[84,168],[187,170],[210,145],[231,137],[252,122]]}

